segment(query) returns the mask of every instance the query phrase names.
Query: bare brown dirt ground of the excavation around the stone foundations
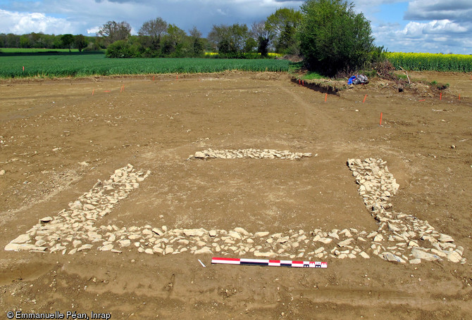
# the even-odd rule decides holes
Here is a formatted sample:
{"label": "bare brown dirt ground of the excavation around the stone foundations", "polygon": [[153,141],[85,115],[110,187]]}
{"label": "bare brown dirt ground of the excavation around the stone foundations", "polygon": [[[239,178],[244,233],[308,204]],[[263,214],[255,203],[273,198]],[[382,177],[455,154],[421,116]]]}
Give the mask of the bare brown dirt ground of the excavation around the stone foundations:
{"label": "bare brown dirt ground of the excavation around the stone foundations", "polygon": [[[111,319],[472,319],[471,76],[410,77],[450,87],[440,100],[434,91],[399,93],[374,79],[325,102],[323,92],[285,74],[1,82],[1,319],[17,311],[65,319],[73,319],[66,312],[89,319],[91,312]],[[311,156],[189,157],[209,149]],[[388,210],[427,221],[433,237],[416,231],[413,242],[398,243],[398,231],[397,243],[387,239],[395,236],[393,220],[387,229],[387,220],[373,218],[347,165],[366,158],[385,161],[399,184],[396,194],[381,195]],[[73,215],[75,226],[42,236],[42,228]],[[38,222],[44,217],[51,221]],[[268,235],[257,238],[261,231]],[[16,243],[40,252],[4,250],[20,235]],[[337,245],[349,236],[353,243]],[[430,253],[460,247],[463,255],[411,264],[415,244]],[[219,256],[328,268],[211,264]]]}

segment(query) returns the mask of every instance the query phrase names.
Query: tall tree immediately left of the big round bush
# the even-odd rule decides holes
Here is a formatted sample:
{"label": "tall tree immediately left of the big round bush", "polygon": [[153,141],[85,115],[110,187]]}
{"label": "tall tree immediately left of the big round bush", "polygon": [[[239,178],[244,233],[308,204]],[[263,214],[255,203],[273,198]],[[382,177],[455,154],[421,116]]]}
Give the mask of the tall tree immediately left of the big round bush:
{"label": "tall tree immediately left of the big round bush", "polygon": [[273,33],[275,51],[298,53],[297,26],[301,21],[302,13],[292,8],[280,8],[267,17],[266,29]]}

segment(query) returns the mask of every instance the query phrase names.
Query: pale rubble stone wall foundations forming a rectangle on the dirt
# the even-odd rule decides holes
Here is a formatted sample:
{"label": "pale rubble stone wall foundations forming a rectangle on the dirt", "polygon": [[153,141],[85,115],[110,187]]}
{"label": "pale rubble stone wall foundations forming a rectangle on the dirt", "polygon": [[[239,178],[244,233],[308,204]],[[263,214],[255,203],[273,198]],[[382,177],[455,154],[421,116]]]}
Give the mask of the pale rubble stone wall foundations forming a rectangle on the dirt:
{"label": "pale rubble stone wall foundations forming a rectangle on the dirt", "polygon": [[[271,151],[264,149],[246,149],[246,151],[201,151],[201,158],[278,158],[300,159],[311,154],[290,153],[289,151]],[[197,153],[194,158],[197,157]],[[68,252],[75,254],[82,250],[96,248],[102,251],[120,253],[113,248],[117,243],[120,248],[135,247],[130,250],[148,254],[211,254],[221,252],[223,255],[249,255],[294,259],[295,257],[316,257],[323,259],[354,259],[358,255],[369,259],[372,253],[392,262],[420,263],[422,260],[435,261],[441,257],[449,262],[465,263],[464,248],[457,246],[454,239],[444,233],[435,231],[426,221],[411,215],[395,212],[389,203],[399,185],[388,171],[383,160],[368,158],[366,160],[349,159],[359,194],[364,198],[366,208],[378,222],[376,231],[359,231],[357,229],[333,229],[323,231],[315,229],[273,233],[256,232],[254,235],[242,227],[231,231],[205,229],[168,229],[167,226],[153,228],[131,226],[99,226],[97,221],[111,212],[120,200],[126,198],[130,191],[149,176],[150,172],[136,171],[128,165],[115,170],[110,179],[99,181],[90,191],[69,203],[67,209],[54,217],[45,217],[32,229],[15,238],[6,245],[5,250],[30,250],[32,252]],[[354,234],[354,236],[352,236]],[[333,241],[336,239],[337,241]],[[342,240],[344,239],[344,240]],[[420,240],[421,239],[421,240]],[[342,241],[339,241],[342,240]],[[323,247],[314,250],[317,242]],[[34,243],[34,244],[33,244]],[[85,244],[82,244],[85,243]],[[426,248],[421,248],[420,244]],[[342,248],[342,249],[340,249]],[[338,250],[339,249],[339,250]],[[314,251],[313,251],[314,250]],[[308,252],[308,253],[306,253]],[[380,253],[382,252],[382,253]],[[413,259],[409,257],[414,257]]]}

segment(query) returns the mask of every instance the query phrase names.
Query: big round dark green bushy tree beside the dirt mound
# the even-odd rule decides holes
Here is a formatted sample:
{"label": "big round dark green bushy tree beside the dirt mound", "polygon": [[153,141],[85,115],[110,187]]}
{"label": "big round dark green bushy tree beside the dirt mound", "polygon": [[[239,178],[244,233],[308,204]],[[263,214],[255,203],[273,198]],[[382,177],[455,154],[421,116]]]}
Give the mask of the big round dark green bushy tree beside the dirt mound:
{"label": "big round dark green bushy tree beside the dirt mound", "polygon": [[374,52],[371,25],[343,0],[307,0],[299,29],[300,49],[309,70],[325,75],[364,68]]}

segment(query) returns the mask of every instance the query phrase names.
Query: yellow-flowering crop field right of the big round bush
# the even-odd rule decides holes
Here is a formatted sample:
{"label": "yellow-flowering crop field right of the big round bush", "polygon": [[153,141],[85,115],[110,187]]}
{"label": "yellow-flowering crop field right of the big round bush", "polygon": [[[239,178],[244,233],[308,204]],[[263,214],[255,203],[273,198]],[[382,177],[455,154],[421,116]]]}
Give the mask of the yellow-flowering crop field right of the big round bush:
{"label": "yellow-flowering crop field right of the big round bush", "polygon": [[471,55],[391,52],[387,59],[398,70],[472,72]]}

